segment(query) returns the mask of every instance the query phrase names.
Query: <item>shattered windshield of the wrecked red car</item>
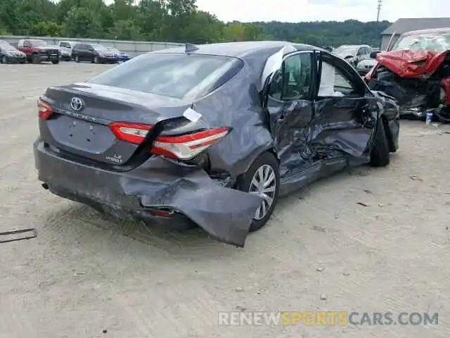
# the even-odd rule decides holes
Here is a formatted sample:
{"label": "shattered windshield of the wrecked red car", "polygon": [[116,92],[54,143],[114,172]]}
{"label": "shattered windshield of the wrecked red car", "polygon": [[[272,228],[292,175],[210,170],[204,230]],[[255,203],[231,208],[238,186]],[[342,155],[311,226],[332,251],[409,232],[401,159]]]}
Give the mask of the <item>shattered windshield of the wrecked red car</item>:
{"label": "shattered windshield of the wrecked red car", "polygon": [[394,44],[393,51],[401,49],[425,49],[442,52],[450,49],[450,32],[444,34],[415,34],[400,37]]}

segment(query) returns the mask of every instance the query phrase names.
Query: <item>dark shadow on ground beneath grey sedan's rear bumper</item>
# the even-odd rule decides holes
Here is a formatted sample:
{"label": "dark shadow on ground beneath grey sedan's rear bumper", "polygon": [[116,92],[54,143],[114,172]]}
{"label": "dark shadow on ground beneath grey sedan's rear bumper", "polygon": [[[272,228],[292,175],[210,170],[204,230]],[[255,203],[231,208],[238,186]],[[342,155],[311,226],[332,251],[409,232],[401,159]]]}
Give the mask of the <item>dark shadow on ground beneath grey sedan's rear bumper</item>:
{"label": "dark shadow on ground beneath grey sedan's rear bumper", "polygon": [[[164,227],[137,220],[119,219],[74,202],[49,215],[44,231],[51,233],[53,238],[69,237],[69,242],[83,242],[86,239],[86,242],[106,242],[108,246],[117,242],[117,237],[127,237],[145,244],[150,250],[157,249],[172,256],[188,257],[205,251],[209,252],[205,258],[210,259],[214,258],[210,253],[213,256],[224,256],[237,249],[235,246],[217,242],[200,227]],[[142,250],[142,246],[136,250]]]}

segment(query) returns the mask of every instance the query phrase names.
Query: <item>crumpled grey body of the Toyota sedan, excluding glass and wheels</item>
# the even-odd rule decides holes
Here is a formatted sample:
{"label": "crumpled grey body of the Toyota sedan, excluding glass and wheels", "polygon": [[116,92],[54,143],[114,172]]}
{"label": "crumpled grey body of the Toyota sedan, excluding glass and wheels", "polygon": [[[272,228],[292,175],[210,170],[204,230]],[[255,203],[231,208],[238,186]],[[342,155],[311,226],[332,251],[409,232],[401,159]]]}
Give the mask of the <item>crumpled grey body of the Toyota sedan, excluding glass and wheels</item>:
{"label": "crumpled grey body of the Toyota sedan, excluding glass and wheels", "polygon": [[[34,144],[39,180],[73,201],[121,216],[186,220],[221,242],[244,246],[263,198],[240,191],[236,182],[262,154],[276,156],[280,194],[287,194],[347,165],[368,163],[379,119],[385,123],[390,151],[398,148],[394,101],[370,92],[350,65],[326,51],[287,42],[192,47],[186,60],[195,54],[230,58],[229,79],[209,92],[183,98],[110,87],[96,78],[47,89],[41,99],[51,105],[53,118],[39,120],[40,137]],[[300,51],[311,58],[307,99],[269,99],[267,90],[281,64],[277,68],[274,62],[273,71],[262,78],[268,59],[280,61]],[[358,93],[316,97],[321,68],[316,63],[323,53],[342,61],[339,65],[350,72]],[[150,54],[186,55],[184,49]],[[113,71],[132,69],[145,59],[133,58]],[[75,111],[74,98],[84,101],[84,110]],[[150,126],[142,142],[124,142],[108,129],[124,122]],[[78,125],[85,128],[80,134],[74,132]],[[193,158],[151,153],[164,137],[220,128],[229,133]],[[167,212],[164,217],[161,211]]]}

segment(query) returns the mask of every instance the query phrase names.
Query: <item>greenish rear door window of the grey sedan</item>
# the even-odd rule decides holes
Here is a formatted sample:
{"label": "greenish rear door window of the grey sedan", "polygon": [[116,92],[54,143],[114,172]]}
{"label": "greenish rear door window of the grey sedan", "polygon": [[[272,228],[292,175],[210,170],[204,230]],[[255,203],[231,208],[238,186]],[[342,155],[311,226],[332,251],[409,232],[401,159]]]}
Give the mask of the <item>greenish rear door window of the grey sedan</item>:
{"label": "greenish rear door window of the grey sedan", "polygon": [[311,53],[288,56],[271,82],[269,95],[280,101],[295,101],[309,97],[311,86]]}

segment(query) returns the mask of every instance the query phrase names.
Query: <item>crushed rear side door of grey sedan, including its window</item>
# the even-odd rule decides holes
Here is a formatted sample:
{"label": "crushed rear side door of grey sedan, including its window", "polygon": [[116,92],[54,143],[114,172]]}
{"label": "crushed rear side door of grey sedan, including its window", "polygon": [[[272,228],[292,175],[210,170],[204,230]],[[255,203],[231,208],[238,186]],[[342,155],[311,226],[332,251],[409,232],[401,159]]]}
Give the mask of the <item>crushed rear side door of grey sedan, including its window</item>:
{"label": "crushed rear side door of grey sedan, including its window", "polygon": [[282,177],[304,162],[301,154],[313,117],[314,72],[313,53],[297,51],[285,56],[269,83],[266,111]]}

